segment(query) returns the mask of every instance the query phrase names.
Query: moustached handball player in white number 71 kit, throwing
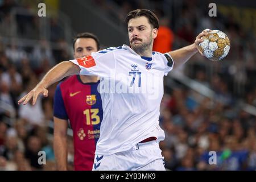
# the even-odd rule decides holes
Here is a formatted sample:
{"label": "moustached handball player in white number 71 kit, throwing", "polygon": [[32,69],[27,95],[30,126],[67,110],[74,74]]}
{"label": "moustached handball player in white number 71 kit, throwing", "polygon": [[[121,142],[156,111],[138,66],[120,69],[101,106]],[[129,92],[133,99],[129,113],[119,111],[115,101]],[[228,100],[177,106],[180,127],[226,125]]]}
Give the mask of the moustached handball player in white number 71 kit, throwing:
{"label": "moustached handball player in white number 71 kit, throwing", "polygon": [[[98,75],[104,110],[93,170],[165,170],[159,148],[164,131],[159,127],[163,76],[199,52],[201,32],[190,46],[167,53],[152,52],[159,20],[150,10],[134,10],[127,17],[130,47],[110,47],[91,56],[63,61],[18,104],[35,104],[39,94],[65,76]],[[113,35],[111,35],[113,36]],[[97,113],[90,113],[97,118]]]}

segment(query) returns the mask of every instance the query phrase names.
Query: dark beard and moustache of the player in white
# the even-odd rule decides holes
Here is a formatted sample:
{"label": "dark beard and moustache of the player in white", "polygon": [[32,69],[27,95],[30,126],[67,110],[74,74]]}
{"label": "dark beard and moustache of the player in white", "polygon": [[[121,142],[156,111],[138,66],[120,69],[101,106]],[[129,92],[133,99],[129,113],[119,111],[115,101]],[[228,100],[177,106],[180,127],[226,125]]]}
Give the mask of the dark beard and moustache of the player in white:
{"label": "dark beard and moustache of the player in white", "polygon": [[[139,40],[139,41],[141,41],[141,43],[140,44],[132,44],[134,40]],[[138,39],[138,38],[132,39],[131,43],[130,43],[131,48],[138,54],[141,54],[141,53],[144,53],[144,52],[150,50],[152,47],[152,44],[153,44],[152,35],[150,35],[150,38],[144,43],[142,43],[142,39]]]}

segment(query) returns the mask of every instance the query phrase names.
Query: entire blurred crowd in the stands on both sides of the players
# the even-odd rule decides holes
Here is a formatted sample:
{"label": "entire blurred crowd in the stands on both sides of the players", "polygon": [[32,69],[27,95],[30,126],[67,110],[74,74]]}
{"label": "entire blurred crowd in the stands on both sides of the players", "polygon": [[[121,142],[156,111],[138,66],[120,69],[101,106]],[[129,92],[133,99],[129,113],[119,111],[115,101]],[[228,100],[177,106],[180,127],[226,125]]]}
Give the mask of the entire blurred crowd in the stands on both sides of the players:
{"label": "entire blurred crowd in the stands on both sides of the players", "polygon": [[[113,0],[108,6],[102,6],[106,1],[95,2],[108,11],[113,4],[119,7],[120,20],[130,10],[143,7],[143,3],[139,3],[141,1]],[[169,34],[168,40],[171,40],[162,42],[166,45],[162,48],[176,49],[188,45],[205,28],[222,30],[231,41],[229,55],[224,61],[213,63],[197,55],[181,68],[182,74],[212,89],[216,93],[213,99],[180,82],[175,86],[166,85],[160,109],[160,125],[166,133],[160,147],[166,168],[255,170],[256,117],[239,105],[245,102],[256,106],[255,35],[244,30],[232,16],[218,14],[209,19],[208,11],[204,12],[197,1],[183,1],[181,14],[175,22],[170,14],[161,11],[166,1],[149,2],[157,5],[155,10],[161,27],[164,27],[162,30]],[[53,120],[56,84],[49,88],[48,97],[40,97],[34,106],[18,106],[17,101],[34,88],[57,61],[72,58],[70,45],[61,36],[63,31],[54,19],[50,38],[38,38],[38,43],[33,46],[3,41],[3,37],[10,36],[5,27],[10,20],[11,9],[17,6],[30,12],[27,3],[20,5],[16,1],[5,0],[0,4],[0,170],[54,170],[53,131],[49,125]],[[31,20],[30,16],[16,19],[20,26],[18,35],[27,35],[28,38],[29,35],[37,35],[36,19]],[[52,43],[57,46],[52,46]],[[72,169],[72,138],[68,143],[69,169]],[[46,152],[46,165],[38,164],[39,151]],[[209,164],[209,151],[216,151],[216,165]]]}

